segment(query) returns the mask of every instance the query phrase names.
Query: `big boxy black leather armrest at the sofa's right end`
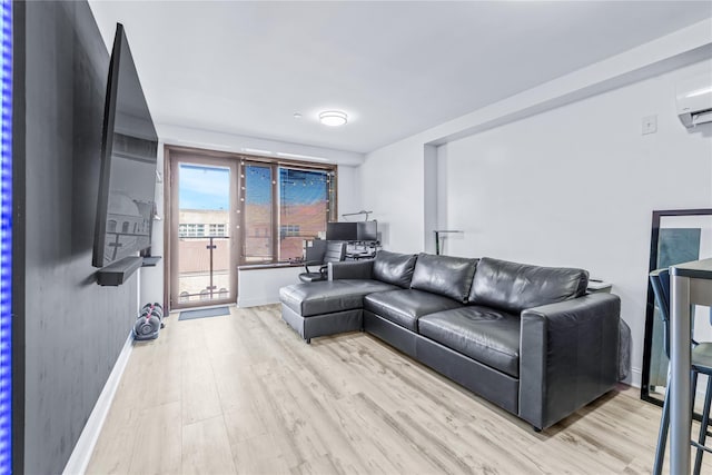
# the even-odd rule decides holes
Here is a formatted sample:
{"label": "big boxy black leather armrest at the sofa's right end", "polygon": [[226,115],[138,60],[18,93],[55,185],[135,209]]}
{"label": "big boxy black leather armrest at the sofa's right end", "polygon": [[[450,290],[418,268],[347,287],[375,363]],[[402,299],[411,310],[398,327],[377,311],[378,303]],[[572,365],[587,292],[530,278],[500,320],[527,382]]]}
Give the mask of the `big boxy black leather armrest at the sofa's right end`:
{"label": "big boxy black leather armrest at the sofa's right end", "polygon": [[615,387],[620,316],[613,294],[522,313],[520,417],[543,429]]}

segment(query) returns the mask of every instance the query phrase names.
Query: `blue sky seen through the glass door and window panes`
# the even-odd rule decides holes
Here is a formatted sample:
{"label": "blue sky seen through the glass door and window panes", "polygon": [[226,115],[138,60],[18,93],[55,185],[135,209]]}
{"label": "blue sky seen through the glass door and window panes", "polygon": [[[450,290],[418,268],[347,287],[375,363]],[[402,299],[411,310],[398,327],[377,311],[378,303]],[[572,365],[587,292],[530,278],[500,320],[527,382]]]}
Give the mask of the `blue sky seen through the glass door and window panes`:
{"label": "blue sky seen through the glass door and window panes", "polygon": [[[271,201],[271,169],[245,166],[246,201],[267,205]],[[220,167],[181,164],[179,170],[181,209],[228,209],[230,170]],[[278,192],[283,204],[310,205],[326,199],[326,172],[280,168]]]}

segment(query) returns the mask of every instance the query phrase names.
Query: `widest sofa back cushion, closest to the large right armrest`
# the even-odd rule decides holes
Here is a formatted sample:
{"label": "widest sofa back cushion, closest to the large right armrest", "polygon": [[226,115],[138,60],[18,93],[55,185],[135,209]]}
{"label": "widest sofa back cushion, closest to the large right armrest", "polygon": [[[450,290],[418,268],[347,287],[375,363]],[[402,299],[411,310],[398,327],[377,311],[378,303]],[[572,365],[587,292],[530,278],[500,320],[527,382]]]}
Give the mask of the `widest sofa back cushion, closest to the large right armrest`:
{"label": "widest sofa back cushion, closest to the large right armrest", "polygon": [[468,303],[513,314],[540,305],[581,297],[589,273],[565,267],[538,267],[483,257],[472,281]]}

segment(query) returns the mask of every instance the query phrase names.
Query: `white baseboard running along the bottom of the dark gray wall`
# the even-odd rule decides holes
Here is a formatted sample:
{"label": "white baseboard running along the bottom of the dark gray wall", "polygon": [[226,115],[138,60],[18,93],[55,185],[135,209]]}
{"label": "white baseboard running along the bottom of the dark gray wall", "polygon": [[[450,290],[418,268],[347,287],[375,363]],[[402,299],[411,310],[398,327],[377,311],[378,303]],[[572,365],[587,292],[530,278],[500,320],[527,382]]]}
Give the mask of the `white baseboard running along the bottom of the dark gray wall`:
{"label": "white baseboard running along the bottom of the dark gray wall", "polygon": [[77,445],[75,445],[75,449],[72,451],[62,474],[82,475],[87,471],[87,465],[89,465],[89,459],[91,458],[93,448],[99,439],[103,422],[109,414],[113,396],[116,395],[116,390],[119,388],[119,382],[121,380],[126,365],[129,362],[131,349],[134,349],[134,335],[129,333],[129,337],[126,339],[123,348],[121,348],[121,353],[113,365],[113,369],[111,369],[111,373],[109,374],[107,383],[103,385],[103,389],[101,389],[97,404],[93,405],[89,419],[87,419],[87,424],[81,431],[79,441],[77,441]]}

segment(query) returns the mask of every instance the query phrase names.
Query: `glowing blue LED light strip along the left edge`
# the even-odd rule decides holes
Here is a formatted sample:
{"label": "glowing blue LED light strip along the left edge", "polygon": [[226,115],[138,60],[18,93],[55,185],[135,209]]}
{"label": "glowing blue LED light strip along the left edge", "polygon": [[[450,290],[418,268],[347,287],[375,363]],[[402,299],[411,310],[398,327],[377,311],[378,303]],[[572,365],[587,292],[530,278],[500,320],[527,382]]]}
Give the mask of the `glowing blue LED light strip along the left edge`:
{"label": "glowing blue LED light strip along the left edge", "polygon": [[12,472],[12,1],[0,2],[0,474]]}

